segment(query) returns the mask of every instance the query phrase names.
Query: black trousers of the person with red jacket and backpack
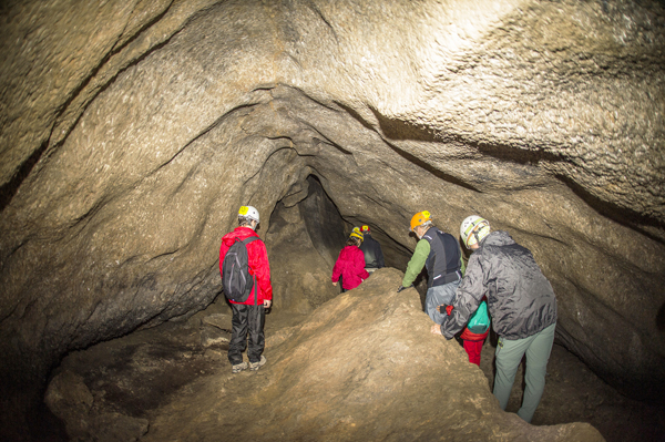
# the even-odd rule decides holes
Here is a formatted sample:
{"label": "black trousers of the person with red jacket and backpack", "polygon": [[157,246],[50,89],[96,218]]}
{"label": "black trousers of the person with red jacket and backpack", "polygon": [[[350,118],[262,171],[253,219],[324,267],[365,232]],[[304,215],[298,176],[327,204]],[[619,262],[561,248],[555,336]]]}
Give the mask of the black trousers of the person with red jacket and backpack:
{"label": "black trousers of the person with red jacket and backpack", "polygon": [[266,310],[263,302],[258,306],[244,304],[232,304],[233,319],[231,321],[233,331],[228,343],[228,360],[232,366],[243,363],[243,351],[247,348],[247,335],[249,336],[249,348],[247,358],[249,362],[258,362],[266,345],[263,331],[266,321]]}

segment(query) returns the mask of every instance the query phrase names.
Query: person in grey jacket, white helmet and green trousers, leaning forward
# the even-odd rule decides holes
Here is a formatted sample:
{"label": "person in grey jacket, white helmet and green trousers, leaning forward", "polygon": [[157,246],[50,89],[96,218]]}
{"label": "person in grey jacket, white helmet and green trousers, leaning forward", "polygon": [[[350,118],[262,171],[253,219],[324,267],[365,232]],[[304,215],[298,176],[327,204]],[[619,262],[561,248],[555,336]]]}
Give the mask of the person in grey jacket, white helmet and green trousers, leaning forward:
{"label": "person in grey jacket, white helmet and green trousers, leaning forward", "polygon": [[505,410],[522,357],[526,353],[524,399],[518,415],[531,422],[545,387],[545,370],[556,327],[556,298],[533,255],[508,232],[491,232],[478,215],[462,222],[464,245],[474,250],[460,284],[452,310],[440,328],[452,339],[487,296],[492,328],[499,335],[493,394]]}

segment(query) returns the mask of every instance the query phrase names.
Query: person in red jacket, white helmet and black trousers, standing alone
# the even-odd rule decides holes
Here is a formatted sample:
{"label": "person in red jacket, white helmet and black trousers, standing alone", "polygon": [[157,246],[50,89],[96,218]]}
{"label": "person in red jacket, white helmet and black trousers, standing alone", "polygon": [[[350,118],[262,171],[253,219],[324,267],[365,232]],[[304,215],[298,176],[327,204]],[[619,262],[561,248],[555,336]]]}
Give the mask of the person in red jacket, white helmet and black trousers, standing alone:
{"label": "person in red jacket, white helmet and black trousers, standing alone", "polygon": [[[224,235],[222,247],[219,248],[219,271],[226,251],[235,243],[235,238],[241,240],[258,234],[255,232],[258,225],[258,210],[252,206],[243,206],[238,210],[238,227]],[[244,302],[231,302],[233,310],[232,335],[228,343],[228,361],[232,364],[234,373],[241,372],[247,368],[258,370],[266,358],[263,356],[265,348],[265,309],[273,304],[273,285],[270,282],[270,266],[268,264],[268,253],[263,240],[257,239],[247,244],[247,260],[249,274],[254,275],[255,284],[249,292],[249,297]],[[243,351],[247,348],[247,335],[249,335],[249,347],[247,349],[247,359],[249,364],[243,361]]]}

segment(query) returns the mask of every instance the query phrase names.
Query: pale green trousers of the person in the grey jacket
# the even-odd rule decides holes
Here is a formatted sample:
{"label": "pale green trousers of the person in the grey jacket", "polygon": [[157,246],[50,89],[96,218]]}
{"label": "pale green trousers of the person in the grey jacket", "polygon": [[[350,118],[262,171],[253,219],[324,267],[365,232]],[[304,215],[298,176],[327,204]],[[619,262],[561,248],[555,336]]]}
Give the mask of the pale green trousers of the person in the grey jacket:
{"label": "pale green trousers of the person in the grey jacket", "polygon": [[535,408],[543,395],[545,372],[552,345],[554,343],[555,328],[556,323],[553,323],[524,339],[510,340],[502,337],[499,338],[493,394],[499,399],[501,410],[505,410],[510,391],[515,380],[515,372],[522,361],[522,357],[526,353],[526,372],[524,374],[526,388],[524,389],[522,407],[518,411],[518,415],[526,422],[531,422]]}

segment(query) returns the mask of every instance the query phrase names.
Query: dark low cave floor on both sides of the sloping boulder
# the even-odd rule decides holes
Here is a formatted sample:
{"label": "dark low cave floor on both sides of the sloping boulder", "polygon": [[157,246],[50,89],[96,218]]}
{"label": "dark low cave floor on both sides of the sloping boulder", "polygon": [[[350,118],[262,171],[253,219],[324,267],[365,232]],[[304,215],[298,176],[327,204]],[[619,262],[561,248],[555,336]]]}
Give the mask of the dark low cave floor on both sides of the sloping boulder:
{"label": "dark low cave floor on both sides of the sloping boulder", "polygon": [[[211,321],[206,325],[204,318],[211,313],[229,320],[231,310],[224,305],[213,305],[186,322],[167,322],[71,353],[59,370],[73,371],[84,379],[95,400],[93,412],[112,411],[152,421],[162,405],[186,391],[194,380],[231,372],[224,342],[228,333],[218,328],[217,338],[209,336],[209,330],[215,328],[211,328]],[[266,353],[269,354],[272,336],[304,319],[306,316],[293,313],[267,315]],[[488,388],[493,379],[494,348],[488,339],[482,351],[481,369]],[[520,405],[522,367],[515,377],[509,412],[516,412]],[[665,440],[664,407],[623,397],[565,348],[555,345],[548,366],[545,391],[532,423],[570,422],[589,422],[610,442]]]}

